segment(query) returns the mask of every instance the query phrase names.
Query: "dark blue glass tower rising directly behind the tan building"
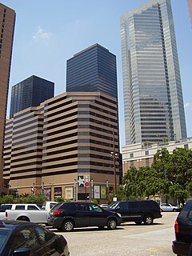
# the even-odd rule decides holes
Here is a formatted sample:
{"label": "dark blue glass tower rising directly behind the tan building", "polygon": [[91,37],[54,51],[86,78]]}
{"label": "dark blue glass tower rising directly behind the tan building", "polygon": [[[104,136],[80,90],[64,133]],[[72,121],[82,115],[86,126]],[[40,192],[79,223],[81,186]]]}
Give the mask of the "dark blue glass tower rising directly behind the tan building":
{"label": "dark blue glass tower rising directly behind the tan building", "polygon": [[98,91],[118,98],[116,56],[97,43],[66,62],[66,91]]}

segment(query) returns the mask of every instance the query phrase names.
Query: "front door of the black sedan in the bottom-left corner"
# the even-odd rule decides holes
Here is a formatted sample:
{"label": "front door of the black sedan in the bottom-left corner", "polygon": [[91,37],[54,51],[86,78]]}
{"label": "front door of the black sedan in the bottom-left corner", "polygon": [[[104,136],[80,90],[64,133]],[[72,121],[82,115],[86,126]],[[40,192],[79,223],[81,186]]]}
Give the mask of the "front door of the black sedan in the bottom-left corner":
{"label": "front door of the black sedan in the bottom-left corner", "polygon": [[22,227],[17,230],[11,238],[10,245],[12,253],[15,250],[26,248],[30,250],[31,256],[46,256],[46,251],[40,244],[33,227]]}

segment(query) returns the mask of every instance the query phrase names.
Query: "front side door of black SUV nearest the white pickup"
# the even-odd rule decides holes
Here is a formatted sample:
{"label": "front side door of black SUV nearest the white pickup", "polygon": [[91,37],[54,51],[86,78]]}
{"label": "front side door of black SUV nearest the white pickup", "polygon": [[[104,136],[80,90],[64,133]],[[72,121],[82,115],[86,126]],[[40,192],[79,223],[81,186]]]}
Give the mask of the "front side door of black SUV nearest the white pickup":
{"label": "front side door of black SUV nearest the white pickup", "polygon": [[106,226],[106,214],[102,207],[90,203],[90,226]]}

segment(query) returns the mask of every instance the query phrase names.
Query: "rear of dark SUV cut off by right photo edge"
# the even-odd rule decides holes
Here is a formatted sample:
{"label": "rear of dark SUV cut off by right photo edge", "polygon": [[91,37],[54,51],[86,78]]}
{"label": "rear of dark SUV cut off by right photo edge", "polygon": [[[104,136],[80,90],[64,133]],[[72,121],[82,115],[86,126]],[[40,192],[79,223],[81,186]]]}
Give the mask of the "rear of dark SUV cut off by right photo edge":
{"label": "rear of dark SUV cut off by right photo edge", "polygon": [[178,256],[192,255],[192,200],[183,206],[174,224],[175,241],[172,249]]}

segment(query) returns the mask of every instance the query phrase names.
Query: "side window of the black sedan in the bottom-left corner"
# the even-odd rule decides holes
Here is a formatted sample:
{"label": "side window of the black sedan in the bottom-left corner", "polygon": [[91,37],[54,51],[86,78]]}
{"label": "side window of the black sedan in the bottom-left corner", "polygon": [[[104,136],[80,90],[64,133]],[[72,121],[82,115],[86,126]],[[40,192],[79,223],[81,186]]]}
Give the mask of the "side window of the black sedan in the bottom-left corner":
{"label": "side window of the black sedan in the bottom-left corner", "polygon": [[13,241],[11,242],[11,250],[14,251],[19,248],[33,249],[38,245],[38,238],[34,230],[32,228],[25,228],[14,234]]}

